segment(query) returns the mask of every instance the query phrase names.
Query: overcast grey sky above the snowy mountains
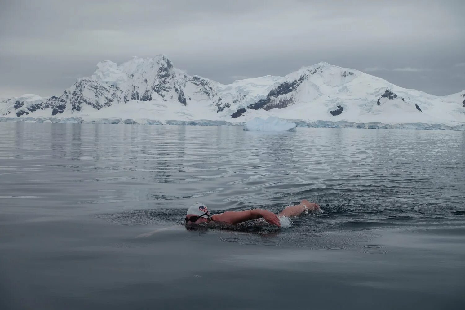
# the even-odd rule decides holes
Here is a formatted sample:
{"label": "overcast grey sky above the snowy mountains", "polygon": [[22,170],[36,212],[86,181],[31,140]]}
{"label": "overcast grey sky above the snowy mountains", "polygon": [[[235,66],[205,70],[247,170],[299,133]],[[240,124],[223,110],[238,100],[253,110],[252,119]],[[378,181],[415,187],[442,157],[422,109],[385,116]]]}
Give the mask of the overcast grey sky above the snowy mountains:
{"label": "overcast grey sky above the snowy mountains", "polygon": [[320,61],[465,89],[465,1],[1,0],[0,97],[60,95],[101,59],[164,53],[221,83]]}

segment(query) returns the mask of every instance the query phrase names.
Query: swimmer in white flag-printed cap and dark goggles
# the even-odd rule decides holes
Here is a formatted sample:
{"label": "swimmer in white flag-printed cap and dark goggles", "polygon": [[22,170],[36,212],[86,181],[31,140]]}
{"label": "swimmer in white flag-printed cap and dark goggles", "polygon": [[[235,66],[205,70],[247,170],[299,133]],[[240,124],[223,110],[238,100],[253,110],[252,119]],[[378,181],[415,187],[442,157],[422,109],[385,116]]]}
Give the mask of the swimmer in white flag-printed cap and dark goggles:
{"label": "swimmer in white flag-printed cap and dark goggles", "polygon": [[239,224],[242,222],[263,219],[267,223],[281,227],[279,218],[295,217],[308,211],[319,211],[319,205],[313,204],[308,200],[302,200],[300,204],[286,207],[278,215],[263,209],[253,209],[247,211],[226,211],[220,214],[211,215],[205,204],[195,203],[187,209],[186,224],[201,224],[209,222]]}

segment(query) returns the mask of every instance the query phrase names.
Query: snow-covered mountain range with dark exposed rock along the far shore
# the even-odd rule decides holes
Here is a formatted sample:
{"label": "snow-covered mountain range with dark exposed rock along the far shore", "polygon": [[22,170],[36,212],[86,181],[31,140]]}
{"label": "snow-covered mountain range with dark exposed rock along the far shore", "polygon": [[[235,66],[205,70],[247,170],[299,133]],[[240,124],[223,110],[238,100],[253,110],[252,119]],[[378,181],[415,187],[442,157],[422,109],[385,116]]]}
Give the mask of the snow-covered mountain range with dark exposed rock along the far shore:
{"label": "snow-covered mountain range with dark exposed rock along the far shore", "polygon": [[159,55],[134,57],[119,66],[100,61],[92,76],[76,80],[59,97],[26,94],[0,102],[4,121],[242,122],[256,116],[302,120],[301,125],[436,124],[462,129],[465,91],[433,96],[325,62],[284,77],[267,75],[223,85],[190,76]]}

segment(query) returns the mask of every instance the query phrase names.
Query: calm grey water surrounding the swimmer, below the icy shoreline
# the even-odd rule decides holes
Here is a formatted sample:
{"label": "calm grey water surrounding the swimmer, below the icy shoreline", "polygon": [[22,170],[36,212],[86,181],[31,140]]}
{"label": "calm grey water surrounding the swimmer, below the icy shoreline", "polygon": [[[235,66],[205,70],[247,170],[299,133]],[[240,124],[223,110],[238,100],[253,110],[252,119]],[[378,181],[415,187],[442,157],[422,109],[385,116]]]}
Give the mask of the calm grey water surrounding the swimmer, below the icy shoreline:
{"label": "calm grey water surrounding the swimmer, below the icy shoreline", "polygon": [[0,309],[464,309],[464,171],[465,132],[0,123]]}

